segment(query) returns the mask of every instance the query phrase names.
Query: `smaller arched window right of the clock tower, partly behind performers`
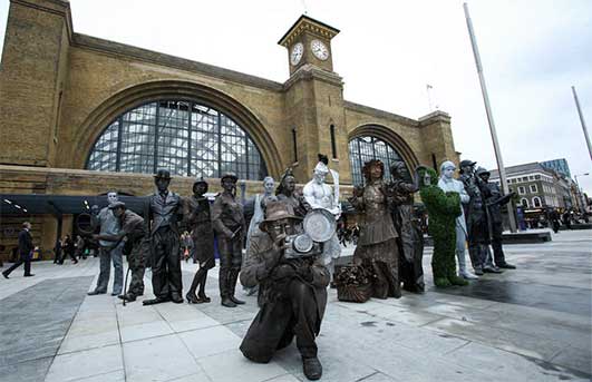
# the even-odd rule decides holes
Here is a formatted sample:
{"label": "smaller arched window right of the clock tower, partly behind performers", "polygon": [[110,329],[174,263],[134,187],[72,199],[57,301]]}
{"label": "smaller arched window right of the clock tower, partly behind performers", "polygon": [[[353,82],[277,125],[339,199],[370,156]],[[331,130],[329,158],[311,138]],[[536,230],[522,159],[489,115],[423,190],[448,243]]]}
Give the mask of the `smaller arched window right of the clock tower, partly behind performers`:
{"label": "smaller arched window right of the clock tower, partly behind performers", "polygon": [[[362,167],[370,159],[380,159],[385,164],[385,179],[390,178],[390,166],[396,161],[405,164],[399,153],[386,141],[370,136],[353,138],[349,141],[349,161],[355,185],[365,183]],[[409,170],[407,164],[405,164],[405,167]],[[408,180],[410,180],[410,177],[408,177]]]}

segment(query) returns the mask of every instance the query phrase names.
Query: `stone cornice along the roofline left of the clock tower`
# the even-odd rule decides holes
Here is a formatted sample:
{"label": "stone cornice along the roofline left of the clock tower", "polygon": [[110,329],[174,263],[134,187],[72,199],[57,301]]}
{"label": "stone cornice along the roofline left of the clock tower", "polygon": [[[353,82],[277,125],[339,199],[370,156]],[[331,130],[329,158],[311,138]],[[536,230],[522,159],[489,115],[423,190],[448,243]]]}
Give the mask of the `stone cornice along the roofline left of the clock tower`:
{"label": "stone cornice along the roofline left of the clock tower", "polygon": [[255,88],[263,88],[272,91],[282,91],[283,86],[269,79],[256,76],[245,75],[239,71],[224,69],[208,63],[187,60],[184,58],[159,53],[153,50],[137,48],[125,43],[108,41],[97,37],[74,33],[72,46],[89,50],[114,55],[119,57],[127,57],[145,62],[162,65],[171,68],[198,72],[201,75],[215,77],[222,80],[233,81],[252,86]]}

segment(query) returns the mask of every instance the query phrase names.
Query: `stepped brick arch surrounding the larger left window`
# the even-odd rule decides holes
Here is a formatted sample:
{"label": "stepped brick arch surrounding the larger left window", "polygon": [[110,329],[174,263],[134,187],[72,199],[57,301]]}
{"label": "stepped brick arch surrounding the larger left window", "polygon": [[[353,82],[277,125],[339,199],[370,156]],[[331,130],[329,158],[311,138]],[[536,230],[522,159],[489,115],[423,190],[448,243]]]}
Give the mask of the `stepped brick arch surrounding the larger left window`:
{"label": "stepped brick arch surrounding the larger left window", "polygon": [[232,117],[258,146],[270,175],[281,173],[281,156],[261,120],[233,97],[211,87],[178,80],[158,80],[128,87],[104,100],[86,118],[74,141],[79,147],[74,158],[84,168],[97,138],[119,115],[148,101],[175,99],[200,102]]}

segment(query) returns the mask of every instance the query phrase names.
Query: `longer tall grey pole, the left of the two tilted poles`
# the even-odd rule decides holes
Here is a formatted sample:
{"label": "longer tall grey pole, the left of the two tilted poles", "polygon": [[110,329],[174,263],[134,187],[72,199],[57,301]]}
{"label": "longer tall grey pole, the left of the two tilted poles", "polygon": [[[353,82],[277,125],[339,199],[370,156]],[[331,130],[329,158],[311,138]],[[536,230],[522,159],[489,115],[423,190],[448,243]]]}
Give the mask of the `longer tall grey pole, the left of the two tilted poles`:
{"label": "longer tall grey pole, the left of the two tilted poles", "polygon": [[[489,105],[489,96],[487,95],[487,86],[485,85],[485,77],[483,76],[483,65],[481,63],[479,49],[477,47],[477,39],[473,31],[473,22],[470,21],[470,16],[468,14],[468,6],[465,2],[463,4],[465,9],[465,18],[467,20],[468,35],[470,37],[470,46],[473,47],[473,55],[475,56],[475,65],[477,66],[477,74],[479,76],[481,92],[483,95],[483,102],[485,104],[485,112],[487,114],[487,121],[489,123],[489,133],[492,134],[492,141],[494,145],[495,159],[497,161],[497,170],[499,172],[499,183],[502,184],[502,189],[504,194],[509,194],[509,187],[506,182],[506,169],[504,167],[504,160],[502,159],[502,150],[499,149],[499,143],[497,141],[497,133],[495,130],[495,123],[492,111],[492,106]],[[511,200],[508,204],[508,214],[509,219],[509,231],[512,233],[516,232],[516,217],[514,216],[514,203]]]}

